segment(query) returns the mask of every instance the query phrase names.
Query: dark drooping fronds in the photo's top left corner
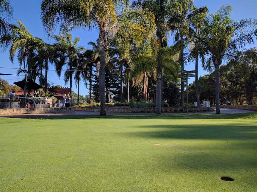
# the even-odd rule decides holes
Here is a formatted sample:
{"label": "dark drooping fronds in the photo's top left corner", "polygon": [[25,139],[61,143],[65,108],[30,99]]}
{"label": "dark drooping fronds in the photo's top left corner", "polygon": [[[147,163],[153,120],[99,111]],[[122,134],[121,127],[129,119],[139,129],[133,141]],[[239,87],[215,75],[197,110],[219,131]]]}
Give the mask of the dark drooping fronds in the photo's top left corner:
{"label": "dark drooping fronds in the photo's top left corner", "polygon": [[6,36],[9,32],[9,23],[5,20],[7,16],[8,19],[11,19],[13,15],[13,9],[10,5],[10,1],[0,0],[0,38]]}

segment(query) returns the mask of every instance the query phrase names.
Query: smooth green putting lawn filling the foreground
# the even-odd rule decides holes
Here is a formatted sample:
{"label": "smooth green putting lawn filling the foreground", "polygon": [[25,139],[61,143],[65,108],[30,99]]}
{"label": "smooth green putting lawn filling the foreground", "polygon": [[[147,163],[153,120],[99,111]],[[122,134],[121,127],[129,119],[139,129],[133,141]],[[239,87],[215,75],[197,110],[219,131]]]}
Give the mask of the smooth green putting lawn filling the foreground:
{"label": "smooth green putting lawn filling the foreground", "polygon": [[1,192],[257,191],[257,113],[47,118],[0,118]]}

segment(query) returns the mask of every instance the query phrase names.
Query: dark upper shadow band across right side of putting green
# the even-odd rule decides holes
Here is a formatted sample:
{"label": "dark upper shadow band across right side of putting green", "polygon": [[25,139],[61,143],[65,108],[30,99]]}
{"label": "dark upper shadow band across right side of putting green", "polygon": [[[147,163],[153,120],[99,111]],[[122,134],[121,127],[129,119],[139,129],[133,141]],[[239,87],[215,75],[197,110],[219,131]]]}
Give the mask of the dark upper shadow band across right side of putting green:
{"label": "dark upper shadow band across right side of putting green", "polygon": [[[257,125],[154,125],[139,126],[147,131],[126,132],[131,137],[164,138],[164,139],[257,139]],[[155,131],[149,131],[154,129]]]}

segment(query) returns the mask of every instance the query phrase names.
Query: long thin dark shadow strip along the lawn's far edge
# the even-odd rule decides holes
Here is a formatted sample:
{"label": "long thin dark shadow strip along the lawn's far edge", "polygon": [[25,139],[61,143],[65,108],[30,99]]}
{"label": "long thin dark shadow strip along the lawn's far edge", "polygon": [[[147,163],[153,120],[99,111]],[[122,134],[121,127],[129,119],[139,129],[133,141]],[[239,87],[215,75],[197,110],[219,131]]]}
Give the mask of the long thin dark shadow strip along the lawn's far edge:
{"label": "long thin dark shadow strip along the lawn's far edge", "polygon": [[[1,117],[1,116],[0,116]],[[6,118],[21,118],[21,119],[257,119],[257,113],[225,113],[225,114],[122,114],[122,115],[107,115],[107,116],[97,116],[97,115],[35,115],[35,116],[2,116]]]}

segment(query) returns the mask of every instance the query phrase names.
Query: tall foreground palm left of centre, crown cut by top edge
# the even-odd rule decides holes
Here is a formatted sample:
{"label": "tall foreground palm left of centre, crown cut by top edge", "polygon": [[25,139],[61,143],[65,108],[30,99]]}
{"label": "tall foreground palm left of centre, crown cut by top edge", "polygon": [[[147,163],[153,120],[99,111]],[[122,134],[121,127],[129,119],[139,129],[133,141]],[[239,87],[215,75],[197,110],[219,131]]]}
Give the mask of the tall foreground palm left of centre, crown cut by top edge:
{"label": "tall foreground palm left of centre, crown cut by top edge", "polygon": [[[125,5],[119,14],[120,3]],[[155,28],[154,18],[151,12],[132,10],[128,8],[128,2],[122,0],[43,0],[41,4],[43,25],[48,35],[54,30],[55,25],[61,24],[61,31],[67,33],[74,28],[99,29],[97,40],[100,53],[100,115],[105,113],[105,64],[106,52],[109,50],[109,36],[121,29],[133,30],[134,36],[142,36]],[[129,21],[133,21],[133,23]],[[135,25],[135,23],[137,23]]]}

